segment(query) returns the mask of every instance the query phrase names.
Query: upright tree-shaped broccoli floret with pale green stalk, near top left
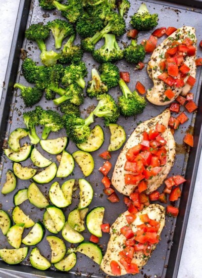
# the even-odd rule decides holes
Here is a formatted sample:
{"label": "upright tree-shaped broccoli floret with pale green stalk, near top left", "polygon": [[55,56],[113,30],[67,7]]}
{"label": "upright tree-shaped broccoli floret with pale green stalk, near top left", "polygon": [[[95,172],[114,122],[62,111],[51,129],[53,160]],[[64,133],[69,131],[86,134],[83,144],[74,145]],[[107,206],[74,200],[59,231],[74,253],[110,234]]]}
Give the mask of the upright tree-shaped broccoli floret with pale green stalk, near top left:
{"label": "upright tree-shaped broccoli floret with pale green stalk, near top left", "polygon": [[73,26],[68,21],[58,18],[49,21],[47,23],[47,28],[53,33],[56,49],[61,48],[64,38],[75,33]]}

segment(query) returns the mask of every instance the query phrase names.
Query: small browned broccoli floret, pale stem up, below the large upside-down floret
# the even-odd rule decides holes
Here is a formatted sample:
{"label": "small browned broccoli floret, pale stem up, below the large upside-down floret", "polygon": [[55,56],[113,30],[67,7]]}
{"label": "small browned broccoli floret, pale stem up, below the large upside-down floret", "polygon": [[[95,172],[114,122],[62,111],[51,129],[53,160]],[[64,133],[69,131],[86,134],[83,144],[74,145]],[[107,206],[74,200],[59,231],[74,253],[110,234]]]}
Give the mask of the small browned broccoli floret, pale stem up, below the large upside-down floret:
{"label": "small browned broccoli floret, pale stem up, below the large upside-down floret", "polygon": [[88,87],[87,87],[87,95],[90,98],[97,97],[100,94],[105,94],[108,92],[108,86],[106,86],[102,80],[100,79],[100,76],[95,68],[92,68],[91,71],[92,79],[88,81]]}

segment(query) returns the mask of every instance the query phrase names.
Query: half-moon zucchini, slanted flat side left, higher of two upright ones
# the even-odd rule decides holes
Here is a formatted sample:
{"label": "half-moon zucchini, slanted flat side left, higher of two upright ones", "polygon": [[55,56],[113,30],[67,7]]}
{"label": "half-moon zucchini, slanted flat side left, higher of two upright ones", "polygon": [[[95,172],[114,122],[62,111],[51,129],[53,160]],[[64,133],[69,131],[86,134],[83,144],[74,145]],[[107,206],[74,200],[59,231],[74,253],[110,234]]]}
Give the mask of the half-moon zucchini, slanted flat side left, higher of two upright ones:
{"label": "half-moon zucchini, slanted flat side left, higher of two upright ones", "polygon": [[74,159],[68,152],[63,151],[60,165],[58,167],[57,177],[67,177],[74,170]]}

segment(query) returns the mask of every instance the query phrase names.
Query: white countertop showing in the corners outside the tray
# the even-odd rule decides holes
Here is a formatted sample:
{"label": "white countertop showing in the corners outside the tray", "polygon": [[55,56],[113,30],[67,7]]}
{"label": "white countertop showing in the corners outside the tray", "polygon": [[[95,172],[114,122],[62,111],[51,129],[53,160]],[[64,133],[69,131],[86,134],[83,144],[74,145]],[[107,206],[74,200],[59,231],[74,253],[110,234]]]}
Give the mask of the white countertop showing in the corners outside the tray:
{"label": "white countertop showing in the corners outside the tray", "polygon": [[[0,0],[0,86],[2,87],[6,74],[7,63],[11,48],[13,31],[18,13],[20,0]],[[0,97],[2,90],[0,89]],[[202,155],[198,169],[202,169]],[[184,241],[184,247],[178,272],[178,278],[201,277],[201,249],[202,249],[202,213],[201,213],[201,179],[199,170],[191,204],[191,211]],[[26,275],[13,275],[0,270],[0,278],[26,277]],[[171,277],[170,277],[171,278]]]}

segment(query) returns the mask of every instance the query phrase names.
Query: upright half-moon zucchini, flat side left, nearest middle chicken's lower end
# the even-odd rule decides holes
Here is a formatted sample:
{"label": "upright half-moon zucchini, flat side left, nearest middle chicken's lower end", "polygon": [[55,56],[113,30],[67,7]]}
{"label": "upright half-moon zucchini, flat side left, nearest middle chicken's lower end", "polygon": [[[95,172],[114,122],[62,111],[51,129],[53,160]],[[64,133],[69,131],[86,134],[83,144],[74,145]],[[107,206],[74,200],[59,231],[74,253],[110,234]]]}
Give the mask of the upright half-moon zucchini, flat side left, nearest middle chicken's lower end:
{"label": "upright half-moon zucchini, flat side left, nearest middle chicken's lower end", "polygon": [[89,206],[93,198],[93,189],[90,183],[84,178],[79,178],[79,189],[80,189],[80,202],[78,209],[83,209]]}

